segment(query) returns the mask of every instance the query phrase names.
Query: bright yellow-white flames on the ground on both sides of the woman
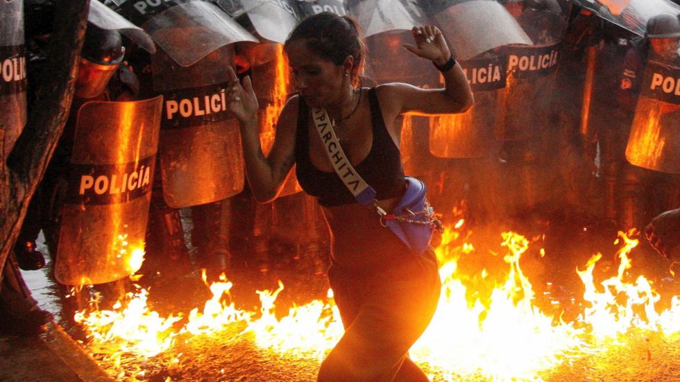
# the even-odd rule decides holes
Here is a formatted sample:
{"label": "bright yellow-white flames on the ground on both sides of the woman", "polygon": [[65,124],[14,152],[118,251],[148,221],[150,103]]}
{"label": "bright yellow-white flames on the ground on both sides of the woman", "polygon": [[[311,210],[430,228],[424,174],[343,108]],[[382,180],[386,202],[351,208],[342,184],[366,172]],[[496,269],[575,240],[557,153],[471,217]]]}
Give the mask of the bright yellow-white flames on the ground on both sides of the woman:
{"label": "bright yellow-white flames on the ground on both sides of the woman", "polygon": [[[616,342],[631,329],[659,331],[665,336],[680,333],[680,296],[674,296],[670,308],[658,313],[655,304],[660,296],[652,284],[643,276],[633,283],[627,281],[627,272],[633,266],[629,254],[638,245],[631,233],[619,233],[616,245],[621,245],[620,265],[615,277],[596,286],[593,270],[601,254],[593,256],[585,270],[577,270],[588,307],[575,322],[564,322],[534,304],[536,292],[520,268],[520,259],[530,245],[527,238],[514,232],[502,234],[506,252],[502,259],[507,270],[502,281],[494,281],[486,270],[465,275],[459,269],[461,258],[479,256],[467,243],[470,234],[459,231],[462,227],[464,220],[459,220],[445,229],[436,248],[443,280],[439,308],[411,349],[414,361],[436,378],[541,379],[559,365]],[[543,248],[540,254],[541,258],[550,256]],[[169,351],[180,335],[190,343],[192,336],[221,335],[230,329],[229,333],[235,333],[234,341],[248,341],[276,354],[320,362],[342,336],[339,311],[330,290],[325,299],[294,305],[287,315],[278,318],[275,301],[284,290],[282,281],[276,290],[257,291],[259,312],[235,307],[230,296],[232,283],[224,275],[209,285],[204,272],[203,281],[212,298],[201,313],[193,309],[187,316],[163,318],[146,306],[148,293],[144,289],[136,295],[128,294],[125,304],[119,302],[112,311],[79,312],[76,320],[92,339],[87,346],[115,342],[125,353],[148,357]],[[559,308],[559,302],[555,304]],[[593,344],[591,338],[600,341]]]}

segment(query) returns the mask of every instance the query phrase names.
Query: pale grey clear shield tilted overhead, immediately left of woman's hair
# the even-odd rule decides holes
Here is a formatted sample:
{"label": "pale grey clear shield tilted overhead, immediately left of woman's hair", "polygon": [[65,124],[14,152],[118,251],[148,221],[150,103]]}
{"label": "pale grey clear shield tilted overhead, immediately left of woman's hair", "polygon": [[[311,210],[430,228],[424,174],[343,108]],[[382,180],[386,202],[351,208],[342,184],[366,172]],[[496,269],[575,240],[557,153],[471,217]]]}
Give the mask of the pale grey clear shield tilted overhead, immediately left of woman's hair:
{"label": "pale grey clear shield tilted overhead, immediately left of woman's hair", "polygon": [[241,0],[253,28],[264,39],[283,44],[300,20],[291,0]]}

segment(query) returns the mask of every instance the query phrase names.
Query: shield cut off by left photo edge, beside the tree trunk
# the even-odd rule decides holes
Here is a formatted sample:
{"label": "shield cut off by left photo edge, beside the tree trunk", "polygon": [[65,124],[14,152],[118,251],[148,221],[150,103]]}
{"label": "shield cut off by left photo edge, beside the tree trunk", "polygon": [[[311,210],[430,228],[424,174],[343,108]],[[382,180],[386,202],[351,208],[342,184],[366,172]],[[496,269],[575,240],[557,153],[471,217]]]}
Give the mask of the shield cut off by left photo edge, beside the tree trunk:
{"label": "shield cut off by left photo edge, beside the tree trunk", "polygon": [[14,147],[26,125],[26,49],[24,3],[0,1],[0,130],[3,158]]}

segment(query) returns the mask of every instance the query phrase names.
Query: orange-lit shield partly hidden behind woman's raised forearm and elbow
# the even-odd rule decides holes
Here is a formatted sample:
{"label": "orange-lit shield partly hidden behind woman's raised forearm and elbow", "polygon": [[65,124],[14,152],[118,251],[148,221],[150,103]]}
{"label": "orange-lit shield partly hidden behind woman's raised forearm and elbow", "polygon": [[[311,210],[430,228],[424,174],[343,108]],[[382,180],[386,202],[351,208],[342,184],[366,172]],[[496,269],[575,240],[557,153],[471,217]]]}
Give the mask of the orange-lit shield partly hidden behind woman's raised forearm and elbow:
{"label": "orange-lit shield partly hidden behind woman's raised forearm and elbow", "polygon": [[475,94],[475,105],[462,114],[430,119],[430,153],[443,158],[498,154],[502,147],[498,121],[504,118],[507,56],[486,53],[459,63]]}

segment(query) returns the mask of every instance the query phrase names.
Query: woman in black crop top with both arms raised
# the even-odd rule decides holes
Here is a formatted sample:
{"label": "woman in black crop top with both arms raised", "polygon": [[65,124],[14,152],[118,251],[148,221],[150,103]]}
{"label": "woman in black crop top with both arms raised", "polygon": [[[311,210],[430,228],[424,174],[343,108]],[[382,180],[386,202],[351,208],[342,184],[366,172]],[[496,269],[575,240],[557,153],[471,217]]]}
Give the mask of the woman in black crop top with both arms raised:
{"label": "woman in black crop top with both arms raised", "polygon": [[[332,238],[328,277],[344,336],[323,361],[318,381],[427,381],[408,358],[425,331],[441,284],[432,248],[416,256],[375,209],[359,205],[334,172],[311,118],[323,107],[350,163],[375,188],[386,211],[405,191],[398,142],[400,114],[452,114],[473,103],[466,77],[438,28],[412,31],[412,53],[439,65],[444,89],[404,83],[355,88],[365,46],[351,17],[321,13],[305,19],[284,45],[299,94],[282,110],[269,157],[257,133],[257,99],[250,78],[231,71],[230,110],[241,122],[248,184],[255,198],[275,198],[293,166],[303,189],[318,198]],[[434,69],[433,69],[434,70]]]}

